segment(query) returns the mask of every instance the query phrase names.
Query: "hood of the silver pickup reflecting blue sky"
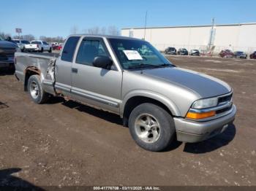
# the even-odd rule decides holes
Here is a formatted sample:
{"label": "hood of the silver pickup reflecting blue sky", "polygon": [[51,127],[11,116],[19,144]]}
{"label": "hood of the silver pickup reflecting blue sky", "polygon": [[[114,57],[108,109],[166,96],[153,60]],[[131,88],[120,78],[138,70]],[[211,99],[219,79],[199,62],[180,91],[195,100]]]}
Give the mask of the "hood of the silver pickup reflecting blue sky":
{"label": "hood of the silver pickup reflecting blue sky", "polygon": [[220,79],[178,67],[145,69],[143,75],[187,87],[200,95],[201,98],[223,95],[231,91],[231,87]]}

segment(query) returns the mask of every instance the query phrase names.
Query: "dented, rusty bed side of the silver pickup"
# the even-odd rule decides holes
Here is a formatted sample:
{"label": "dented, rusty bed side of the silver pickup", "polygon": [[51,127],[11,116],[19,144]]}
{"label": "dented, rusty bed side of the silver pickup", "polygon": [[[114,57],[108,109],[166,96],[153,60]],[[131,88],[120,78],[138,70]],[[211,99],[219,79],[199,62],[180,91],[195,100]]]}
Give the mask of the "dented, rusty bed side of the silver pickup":
{"label": "dented, rusty bed side of the silver pickup", "polygon": [[27,91],[29,77],[37,74],[45,92],[55,95],[55,63],[55,56],[15,52],[15,76],[23,82],[24,90]]}

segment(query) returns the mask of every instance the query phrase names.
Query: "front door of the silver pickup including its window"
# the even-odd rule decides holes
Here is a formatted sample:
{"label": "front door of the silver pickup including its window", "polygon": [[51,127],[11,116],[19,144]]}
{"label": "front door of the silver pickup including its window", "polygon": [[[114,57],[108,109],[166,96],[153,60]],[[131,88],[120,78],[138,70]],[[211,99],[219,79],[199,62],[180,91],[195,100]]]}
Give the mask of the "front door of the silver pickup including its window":
{"label": "front door of the silver pickup including its window", "polygon": [[110,57],[102,38],[81,39],[75,61],[72,63],[72,97],[87,104],[119,113],[122,72],[115,63],[111,69],[93,66],[99,55]]}

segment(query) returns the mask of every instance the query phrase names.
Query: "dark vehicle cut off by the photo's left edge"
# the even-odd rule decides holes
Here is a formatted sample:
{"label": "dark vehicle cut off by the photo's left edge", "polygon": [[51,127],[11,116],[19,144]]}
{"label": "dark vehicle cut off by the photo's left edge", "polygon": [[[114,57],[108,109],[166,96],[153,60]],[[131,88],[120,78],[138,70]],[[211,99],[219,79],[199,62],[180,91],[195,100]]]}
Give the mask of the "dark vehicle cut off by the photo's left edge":
{"label": "dark vehicle cut off by the photo's left edge", "polygon": [[5,41],[0,36],[0,70],[11,69],[14,70],[14,53],[19,50],[17,44]]}

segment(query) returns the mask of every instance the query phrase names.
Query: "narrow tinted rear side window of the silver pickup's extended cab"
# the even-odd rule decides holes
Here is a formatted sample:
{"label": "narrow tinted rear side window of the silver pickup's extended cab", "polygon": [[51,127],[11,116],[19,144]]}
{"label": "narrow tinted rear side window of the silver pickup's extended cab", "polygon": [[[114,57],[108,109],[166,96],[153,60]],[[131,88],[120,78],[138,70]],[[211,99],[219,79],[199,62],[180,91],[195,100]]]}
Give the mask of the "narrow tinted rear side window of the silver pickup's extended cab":
{"label": "narrow tinted rear side window of the silver pickup's extended cab", "polygon": [[67,42],[61,54],[61,61],[72,62],[74,52],[75,52],[75,47],[77,47],[79,39],[80,39],[79,36],[71,36],[69,37],[69,39],[67,39]]}

